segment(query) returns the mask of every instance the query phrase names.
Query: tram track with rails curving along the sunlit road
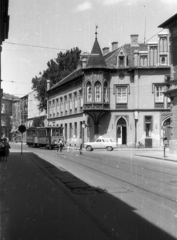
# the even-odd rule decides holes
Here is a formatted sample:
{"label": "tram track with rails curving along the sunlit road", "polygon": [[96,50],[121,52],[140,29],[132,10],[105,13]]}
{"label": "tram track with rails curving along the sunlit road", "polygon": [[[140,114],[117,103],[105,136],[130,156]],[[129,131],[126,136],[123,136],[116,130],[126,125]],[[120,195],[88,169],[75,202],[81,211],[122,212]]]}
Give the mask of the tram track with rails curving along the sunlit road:
{"label": "tram track with rails curving along the sunlit road", "polygon": [[[52,154],[52,155],[55,156],[55,158],[56,158],[56,152],[55,152],[55,154]],[[57,155],[57,157],[58,157],[58,155]],[[91,170],[92,172],[95,172],[96,174],[99,173],[103,176],[103,178],[105,176],[109,180],[114,179],[114,181],[116,180],[119,183],[121,182],[124,185],[126,184],[129,189],[132,189],[133,192],[136,192],[136,191],[142,192],[143,191],[143,192],[146,192],[146,193],[149,193],[149,194],[153,194],[154,197],[161,198],[162,203],[163,203],[163,199],[166,199],[173,204],[175,203],[175,205],[177,203],[177,199],[176,199],[175,195],[174,196],[173,195],[169,196],[168,194],[166,194],[166,191],[164,191],[164,189],[163,189],[165,187],[168,189],[168,187],[170,186],[170,189],[174,188],[176,190],[176,188],[177,188],[176,181],[174,181],[175,184],[173,184],[173,179],[174,178],[172,178],[172,177],[176,178],[177,175],[159,171],[161,174],[168,174],[168,175],[171,176],[170,179],[171,179],[172,182],[169,183],[169,182],[162,181],[163,179],[160,181],[160,180],[154,179],[154,178],[149,177],[149,176],[144,176],[144,175],[138,173],[137,171],[134,171],[133,173],[131,173],[130,171],[128,171],[124,168],[119,167],[119,168],[115,169],[115,166],[111,166],[111,165],[105,164],[103,162],[100,165],[100,162],[98,163],[97,161],[99,161],[101,159],[101,157],[99,157],[99,159],[97,159],[97,157],[95,158],[95,155],[93,156],[93,158],[92,158],[92,156],[86,156],[86,155],[84,155],[84,157],[79,156],[79,157],[77,157],[77,161],[75,161],[75,159],[73,157],[73,153],[69,153],[69,152],[67,154],[60,155],[59,157],[61,159],[64,159],[64,161],[69,161],[72,164],[75,164],[77,166],[85,167],[85,168]],[[89,162],[89,165],[88,165],[88,162]],[[91,166],[92,162],[99,164],[98,167],[93,168]],[[118,163],[120,163],[120,162],[118,162]],[[95,166],[95,164],[94,164],[94,166]],[[137,167],[137,166],[135,166],[135,167]],[[142,168],[142,166],[141,167],[138,166],[138,167]],[[148,169],[148,170],[153,171],[153,169]],[[126,177],[125,177],[124,174],[120,174],[121,172],[126,173]],[[136,180],[133,179],[132,176],[135,176]],[[142,181],[142,179],[143,179],[142,177],[144,178],[144,182]],[[145,181],[149,181],[149,183],[145,184]],[[157,185],[156,188],[154,188],[154,186],[152,186],[152,183],[154,181],[156,183],[160,184],[160,185]],[[166,186],[165,186],[165,184],[166,184]]]}

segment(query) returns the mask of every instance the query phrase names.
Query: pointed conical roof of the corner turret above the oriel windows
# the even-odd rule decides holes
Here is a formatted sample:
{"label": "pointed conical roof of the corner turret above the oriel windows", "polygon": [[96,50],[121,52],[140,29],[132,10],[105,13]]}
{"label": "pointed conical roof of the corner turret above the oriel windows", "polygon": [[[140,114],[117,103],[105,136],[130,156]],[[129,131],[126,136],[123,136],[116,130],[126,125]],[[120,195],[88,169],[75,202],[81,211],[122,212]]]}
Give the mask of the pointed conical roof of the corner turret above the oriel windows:
{"label": "pointed conical roof of the corner turret above the oriel windows", "polygon": [[85,67],[85,69],[91,69],[91,68],[106,68],[106,69],[108,68],[97,38],[95,38],[95,42],[94,42],[91,54],[89,56],[87,65]]}

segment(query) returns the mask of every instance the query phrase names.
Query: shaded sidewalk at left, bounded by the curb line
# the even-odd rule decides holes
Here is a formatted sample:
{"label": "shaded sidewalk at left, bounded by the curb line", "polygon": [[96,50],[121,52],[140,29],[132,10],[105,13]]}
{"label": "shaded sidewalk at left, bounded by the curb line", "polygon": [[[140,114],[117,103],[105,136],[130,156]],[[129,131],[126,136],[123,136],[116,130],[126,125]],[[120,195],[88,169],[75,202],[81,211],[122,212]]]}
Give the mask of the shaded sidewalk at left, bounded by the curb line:
{"label": "shaded sidewalk at left, bounded by the curb line", "polygon": [[0,162],[0,240],[108,240],[66,187],[44,169],[62,172],[33,153]]}

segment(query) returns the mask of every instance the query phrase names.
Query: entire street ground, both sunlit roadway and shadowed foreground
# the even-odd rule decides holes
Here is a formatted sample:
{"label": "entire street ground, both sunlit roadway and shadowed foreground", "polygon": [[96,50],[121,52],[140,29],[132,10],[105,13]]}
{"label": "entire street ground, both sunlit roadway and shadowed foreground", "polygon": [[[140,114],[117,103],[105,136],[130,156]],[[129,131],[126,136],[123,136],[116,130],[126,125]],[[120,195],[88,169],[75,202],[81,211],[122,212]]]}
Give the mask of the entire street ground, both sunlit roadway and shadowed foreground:
{"label": "entire street ground, both sunlit roadway and shadowed foreground", "polygon": [[[13,171],[9,185],[1,179],[4,239],[177,239],[176,162],[137,156],[135,151],[79,155],[65,149],[59,155],[26,145],[21,155],[20,144],[12,144],[11,152],[9,161],[0,163],[0,171]],[[14,161],[16,169],[11,169]],[[19,166],[23,176],[15,174]]]}

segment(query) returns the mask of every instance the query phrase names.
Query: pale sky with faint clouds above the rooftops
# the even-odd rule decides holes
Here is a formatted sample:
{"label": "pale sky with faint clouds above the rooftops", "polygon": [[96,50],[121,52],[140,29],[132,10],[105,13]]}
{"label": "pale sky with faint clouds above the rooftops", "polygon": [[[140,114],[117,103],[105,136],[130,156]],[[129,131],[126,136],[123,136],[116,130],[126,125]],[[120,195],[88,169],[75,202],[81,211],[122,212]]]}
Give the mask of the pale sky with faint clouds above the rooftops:
{"label": "pale sky with faint clouds above the rooftops", "polygon": [[101,48],[157,41],[158,26],[177,13],[177,0],[9,0],[9,36],[2,44],[3,92],[23,97],[31,80],[59,52],[90,52],[95,27]]}

